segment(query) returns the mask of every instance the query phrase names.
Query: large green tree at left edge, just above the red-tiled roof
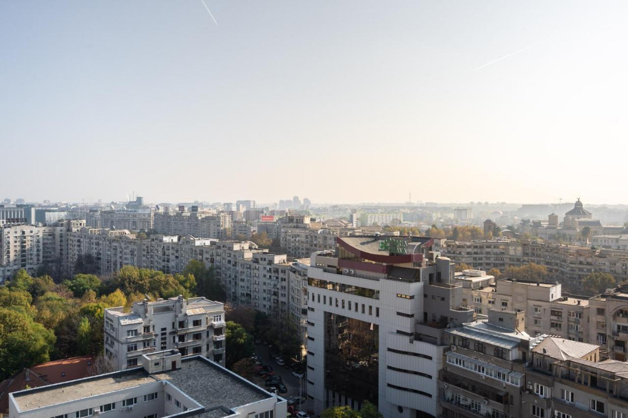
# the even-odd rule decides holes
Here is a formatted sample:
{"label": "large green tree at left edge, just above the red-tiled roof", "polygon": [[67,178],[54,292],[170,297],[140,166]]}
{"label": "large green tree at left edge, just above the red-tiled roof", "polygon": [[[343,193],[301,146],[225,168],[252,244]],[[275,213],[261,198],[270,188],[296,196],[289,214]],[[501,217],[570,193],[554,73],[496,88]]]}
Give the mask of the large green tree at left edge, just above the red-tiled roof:
{"label": "large green tree at left edge, just above the red-tiled roof", "polygon": [[50,361],[55,334],[23,313],[0,308],[0,379]]}

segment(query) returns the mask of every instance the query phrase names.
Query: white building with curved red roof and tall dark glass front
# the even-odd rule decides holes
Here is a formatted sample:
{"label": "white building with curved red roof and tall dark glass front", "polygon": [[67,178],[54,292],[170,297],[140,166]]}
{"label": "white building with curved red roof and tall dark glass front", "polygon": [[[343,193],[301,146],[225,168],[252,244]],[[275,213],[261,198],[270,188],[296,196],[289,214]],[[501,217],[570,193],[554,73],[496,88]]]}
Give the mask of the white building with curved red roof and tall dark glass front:
{"label": "white building with curved red roof and tall dark glass front", "polygon": [[[431,238],[337,240],[308,269],[308,407],[358,409],[367,399],[385,417],[436,416],[443,333],[473,317],[458,308],[453,263],[431,251]],[[347,352],[347,340],[360,350]]]}

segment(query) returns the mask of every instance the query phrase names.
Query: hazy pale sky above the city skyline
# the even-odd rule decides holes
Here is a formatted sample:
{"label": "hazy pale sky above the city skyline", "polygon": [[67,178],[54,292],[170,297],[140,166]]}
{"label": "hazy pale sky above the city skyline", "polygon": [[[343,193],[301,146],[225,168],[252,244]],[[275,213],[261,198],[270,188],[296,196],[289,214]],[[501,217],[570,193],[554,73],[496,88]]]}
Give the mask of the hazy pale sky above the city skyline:
{"label": "hazy pale sky above the city skyline", "polygon": [[0,198],[628,203],[624,0],[205,2],[0,2]]}

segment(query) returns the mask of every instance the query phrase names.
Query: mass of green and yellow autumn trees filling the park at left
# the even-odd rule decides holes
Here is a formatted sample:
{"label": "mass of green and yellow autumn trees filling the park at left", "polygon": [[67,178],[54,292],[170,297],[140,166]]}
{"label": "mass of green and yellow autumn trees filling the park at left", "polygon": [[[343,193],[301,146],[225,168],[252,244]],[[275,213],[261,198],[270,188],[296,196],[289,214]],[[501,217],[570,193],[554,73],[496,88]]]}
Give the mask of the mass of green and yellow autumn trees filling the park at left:
{"label": "mass of green and yellow autumn trees filling the park at left", "polygon": [[0,380],[24,367],[103,349],[104,310],[145,297],[205,296],[225,300],[213,269],[192,260],[182,274],[125,265],[108,277],[75,274],[55,283],[19,270],[0,287]]}

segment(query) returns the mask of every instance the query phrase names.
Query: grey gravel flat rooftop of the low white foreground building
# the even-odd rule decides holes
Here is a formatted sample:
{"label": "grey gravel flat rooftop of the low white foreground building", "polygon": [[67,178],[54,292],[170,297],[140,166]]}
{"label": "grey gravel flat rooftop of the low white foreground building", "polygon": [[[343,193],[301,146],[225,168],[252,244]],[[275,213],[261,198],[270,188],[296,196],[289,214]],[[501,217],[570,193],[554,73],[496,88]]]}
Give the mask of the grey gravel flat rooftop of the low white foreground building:
{"label": "grey gravel flat rooftop of the low white foreground building", "polygon": [[85,397],[109,394],[160,380],[170,382],[181,392],[203,405],[205,411],[200,413],[203,418],[227,416],[230,413],[225,410],[274,397],[261,387],[201,356],[185,358],[180,368],[168,372],[149,374],[144,368],[133,368],[14,392],[13,397],[19,409],[27,411]]}

